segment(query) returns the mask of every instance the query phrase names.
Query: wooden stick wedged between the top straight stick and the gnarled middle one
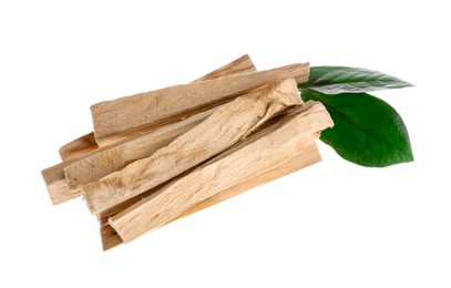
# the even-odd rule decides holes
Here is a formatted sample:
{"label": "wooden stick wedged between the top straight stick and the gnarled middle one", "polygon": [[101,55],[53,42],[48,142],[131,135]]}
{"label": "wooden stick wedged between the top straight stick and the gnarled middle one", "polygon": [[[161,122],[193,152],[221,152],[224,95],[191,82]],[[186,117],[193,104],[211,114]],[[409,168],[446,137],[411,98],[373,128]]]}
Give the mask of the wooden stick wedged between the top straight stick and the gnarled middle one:
{"label": "wooden stick wedged between the top straight stick and the gnarled middle one", "polygon": [[64,168],[69,187],[76,188],[95,182],[127,164],[154,154],[180,135],[188,132],[221,106],[195,114],[184,121],[166,125],[141,137],[95,153]]}

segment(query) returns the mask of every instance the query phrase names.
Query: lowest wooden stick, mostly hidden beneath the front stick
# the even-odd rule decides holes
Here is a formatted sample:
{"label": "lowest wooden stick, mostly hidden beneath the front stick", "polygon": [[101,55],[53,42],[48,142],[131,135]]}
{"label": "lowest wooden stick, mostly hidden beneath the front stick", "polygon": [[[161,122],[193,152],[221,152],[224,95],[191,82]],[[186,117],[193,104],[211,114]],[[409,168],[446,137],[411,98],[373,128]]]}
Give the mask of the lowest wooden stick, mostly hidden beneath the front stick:
{"label": "lowest wooden stick, mostly hidden beneath the front stick", "polygon": [[[319,151],[316,146],[316,143],[312,143],[310,146],[306,147],[305,150],[303,150],[301,152],[299,152],[298,154],[296,154],[295,156],[289,158],[287,162],[280,164],[279,166],[277,166],[270,171],[267,171],[263,174],[256,175],[245,182],[238,183],[225,191],[219,192],[216,195],[213,195],[209,198],[206,198],[205,200],[194,205],[193,207],[185,210],[177,217],[173,218],[165,225],[167,225],[174,220],[181,219],[183,217],[186,217],[193,213],[196,213],[196,212],[199,212],[207,207],[211,207],[223,200],[235,197],[235,196],[242,194],[243,192],[248,191],[253,187],[257,187],[257,186],[268,183],[270,181],[277,179],[279,177],[283,177],[285,175],[288,175],[290,173],[294,173],[294,172],[305,168],[307,166],[310,166],[315,163],[318,163],[320,161],[321,161],[321,156],[319,155]],[[107,220],[107,218],[106,218],[106,220]],[[110,225],[107,225],[107,223],[106,223],[106,225],[103,225],[100,228],[100,234],[102,237],[103,250],[111,249],[111,248],[122,244],[121,237],[119,237],[117,233]]]}

